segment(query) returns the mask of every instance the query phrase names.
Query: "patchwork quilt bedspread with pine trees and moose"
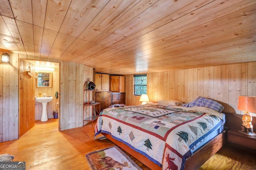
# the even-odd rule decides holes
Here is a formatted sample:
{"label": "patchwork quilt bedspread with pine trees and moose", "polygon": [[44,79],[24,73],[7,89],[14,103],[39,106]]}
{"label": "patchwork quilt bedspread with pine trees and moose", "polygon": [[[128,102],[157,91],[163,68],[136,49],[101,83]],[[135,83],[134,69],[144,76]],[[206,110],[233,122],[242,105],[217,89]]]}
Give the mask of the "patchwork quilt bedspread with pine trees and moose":
{"label": "patchwork quilt bedspread with pine trees and moose", "polygon": [[146,104],[102,110],[94,131],[110,134],[162,169],[184,169],[191,149],[220,127],[223,113],[206,107]]}

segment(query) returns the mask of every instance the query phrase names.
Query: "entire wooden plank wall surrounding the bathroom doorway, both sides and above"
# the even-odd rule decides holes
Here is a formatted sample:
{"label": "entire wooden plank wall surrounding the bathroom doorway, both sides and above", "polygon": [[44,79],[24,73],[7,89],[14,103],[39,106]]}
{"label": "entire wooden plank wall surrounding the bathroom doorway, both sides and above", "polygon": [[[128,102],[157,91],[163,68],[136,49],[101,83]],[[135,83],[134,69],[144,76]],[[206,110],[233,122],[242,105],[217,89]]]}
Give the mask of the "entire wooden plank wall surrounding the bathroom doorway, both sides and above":
{"label": "entire wooden plank wall surrounding the bathroom doorway, both sides and above", "polygon": [[92,80],[93,69],[83,64],[10,53],[9,63],[0,61],[0,142],[18,139],[19,59],[60,63],[59,130],[83,126],[83,85],[86,78]]}

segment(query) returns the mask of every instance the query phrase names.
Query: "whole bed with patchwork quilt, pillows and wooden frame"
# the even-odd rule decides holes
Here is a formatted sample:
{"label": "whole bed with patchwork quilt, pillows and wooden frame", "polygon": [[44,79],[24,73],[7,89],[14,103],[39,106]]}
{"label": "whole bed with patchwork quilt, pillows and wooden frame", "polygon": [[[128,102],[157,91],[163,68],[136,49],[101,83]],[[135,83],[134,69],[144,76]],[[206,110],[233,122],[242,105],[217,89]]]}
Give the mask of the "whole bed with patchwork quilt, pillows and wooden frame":
{"label": "whole bed with patchwork quilt, pillows and wooden frame", "polygon": [[224,144],[225,115],[216,101],[198,97],[106,108],[94,127],[151,169],[198,169]]}

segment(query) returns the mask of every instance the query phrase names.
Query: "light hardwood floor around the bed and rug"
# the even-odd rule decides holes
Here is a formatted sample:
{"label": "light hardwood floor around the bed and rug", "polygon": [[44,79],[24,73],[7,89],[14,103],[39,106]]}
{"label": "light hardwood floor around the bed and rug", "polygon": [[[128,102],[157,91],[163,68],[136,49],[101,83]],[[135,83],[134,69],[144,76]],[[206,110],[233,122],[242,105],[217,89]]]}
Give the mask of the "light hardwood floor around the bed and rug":
{"label": "light hardwood floor around the bed and rug", "polygon": [[[31,170],[89,170],[84,155],[93,150],[113,146],[108,139],[94,141],[94,126],[58,131],[58,119],[36,121],[35,126],[20,139],[0,143],[0,154],[13,154],[14,161],[25,161]],[[94,121],[95,125],[95,121]],[[98,135],[96,138],[101,137]],[[150,170],[131,158],[143,169]],[[253,170],[255,152],[245,152],[226,145],[210,158],[200,170]]]}

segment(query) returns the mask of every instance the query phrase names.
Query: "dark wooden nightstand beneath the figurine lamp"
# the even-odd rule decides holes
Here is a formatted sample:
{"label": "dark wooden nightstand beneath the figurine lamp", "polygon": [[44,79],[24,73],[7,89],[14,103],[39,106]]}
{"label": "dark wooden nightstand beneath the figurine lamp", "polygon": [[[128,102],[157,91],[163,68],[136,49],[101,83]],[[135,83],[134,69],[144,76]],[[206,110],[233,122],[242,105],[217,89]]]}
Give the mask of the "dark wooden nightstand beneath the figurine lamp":
{"label": "dark wooden nightstand beneath the figurine lamp", "polygon": [[247,137],[236,130],[228,131],[228,142],[256,150],[256,138]]}

